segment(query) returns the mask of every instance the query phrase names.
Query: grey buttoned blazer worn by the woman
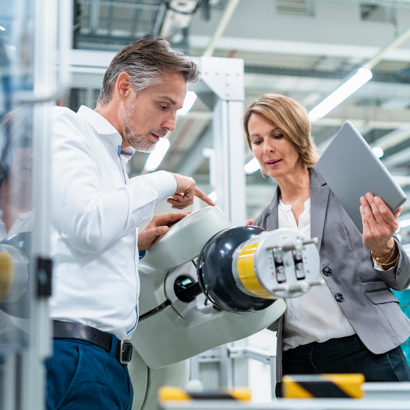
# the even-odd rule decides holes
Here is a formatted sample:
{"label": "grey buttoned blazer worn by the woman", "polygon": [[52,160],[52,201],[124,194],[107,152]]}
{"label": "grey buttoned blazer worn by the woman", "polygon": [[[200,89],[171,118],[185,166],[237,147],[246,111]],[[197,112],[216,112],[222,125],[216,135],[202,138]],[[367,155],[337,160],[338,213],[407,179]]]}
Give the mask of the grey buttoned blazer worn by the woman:
{"label": "grey buttoned blazer worn by the woman", "polygon": [[[278,229],[276,189],[272,202],[255,219],[266,230]],[[369,351],[381,354],[403,343],[410,335],[410,320],[401,312],[390,288],[404,290],[410,284],[410,259],[398,243],[396,267],[378,271],[373,267],[362,234],[315,168],[310,168],[310,233],[319,239],[320,272],[333,295],[340,293],[344,314]],[[328,266],[331,274],[322,269]],[[269,326],[277,330],[276,378],[282,380],[283,316]]]}

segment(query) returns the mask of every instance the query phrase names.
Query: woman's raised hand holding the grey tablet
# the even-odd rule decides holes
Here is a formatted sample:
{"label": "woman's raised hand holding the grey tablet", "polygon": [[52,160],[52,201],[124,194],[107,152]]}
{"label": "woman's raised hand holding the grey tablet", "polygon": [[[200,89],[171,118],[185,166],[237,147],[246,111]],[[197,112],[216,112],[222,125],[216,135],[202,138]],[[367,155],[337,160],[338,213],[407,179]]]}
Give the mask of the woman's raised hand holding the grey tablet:
{"label": "woman's raised hand holding the grey tablet", "polygon": [[363,223],[363,243],[373,255],[385,255],[394,246],[393,234],[399,227],[397,216],[403,209],[393,212],[383,199],[370,192],[360,198],[360,214]]}

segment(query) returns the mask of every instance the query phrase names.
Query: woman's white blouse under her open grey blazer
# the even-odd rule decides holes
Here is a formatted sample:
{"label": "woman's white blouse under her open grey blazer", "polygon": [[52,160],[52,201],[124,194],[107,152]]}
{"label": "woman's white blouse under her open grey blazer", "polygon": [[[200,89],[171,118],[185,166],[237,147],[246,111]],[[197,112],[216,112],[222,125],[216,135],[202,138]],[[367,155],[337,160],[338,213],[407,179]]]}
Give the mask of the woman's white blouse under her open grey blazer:
{"label": "woman's white blouse under her open grey blazer", "polygon": [[[298,225],[292,205],[279,200],[278,223],[279,228],[298,229],[310,238],[310,198],[305,202]],[[356,333],[326,284],[314,286],[298,298],[286,298],[285,302],[283,350]]]}

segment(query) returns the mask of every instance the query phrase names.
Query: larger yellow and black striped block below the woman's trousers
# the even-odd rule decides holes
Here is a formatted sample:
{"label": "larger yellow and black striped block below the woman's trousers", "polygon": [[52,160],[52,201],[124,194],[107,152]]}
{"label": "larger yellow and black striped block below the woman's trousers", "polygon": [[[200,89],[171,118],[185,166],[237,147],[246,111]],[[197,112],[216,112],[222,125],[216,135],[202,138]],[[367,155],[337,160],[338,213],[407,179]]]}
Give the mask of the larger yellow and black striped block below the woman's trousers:
{"label": "larger yellow and black striped block below the woman's trousers", "polygon": [[307,399],[311,397],[363,397],[364,376],[352,374],[318,374],[301,376],[283,376],[283,397]]}

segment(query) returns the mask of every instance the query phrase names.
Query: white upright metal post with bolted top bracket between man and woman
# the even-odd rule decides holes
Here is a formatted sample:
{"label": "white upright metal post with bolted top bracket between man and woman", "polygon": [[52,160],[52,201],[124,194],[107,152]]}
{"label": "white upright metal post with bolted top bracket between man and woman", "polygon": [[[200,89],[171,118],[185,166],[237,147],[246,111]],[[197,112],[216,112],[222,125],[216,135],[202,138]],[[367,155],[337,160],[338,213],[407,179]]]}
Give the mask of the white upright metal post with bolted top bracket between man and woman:
{"label": "white upright metal post with bolted top bracket between man and woman", "polygon": [[201,80],[215,93],[213,146],[216,151],[216,194],[218,205],[233,225],[246,221],[244,61],[200,57]]}

